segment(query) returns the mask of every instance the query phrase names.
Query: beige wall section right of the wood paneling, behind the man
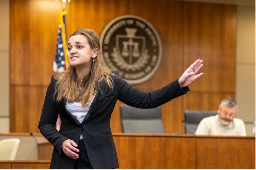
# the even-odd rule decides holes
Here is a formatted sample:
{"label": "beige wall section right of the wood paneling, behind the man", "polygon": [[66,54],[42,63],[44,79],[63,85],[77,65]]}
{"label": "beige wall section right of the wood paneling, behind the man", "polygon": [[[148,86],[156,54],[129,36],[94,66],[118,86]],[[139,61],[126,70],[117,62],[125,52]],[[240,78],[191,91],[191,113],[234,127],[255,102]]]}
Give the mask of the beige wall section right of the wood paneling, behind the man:
{"label": "beige wall section right of the wood paneling, behind the man", "polygon": [[237,6],[236,100],[238,118],[252,135],[255,121],[255,6]]}

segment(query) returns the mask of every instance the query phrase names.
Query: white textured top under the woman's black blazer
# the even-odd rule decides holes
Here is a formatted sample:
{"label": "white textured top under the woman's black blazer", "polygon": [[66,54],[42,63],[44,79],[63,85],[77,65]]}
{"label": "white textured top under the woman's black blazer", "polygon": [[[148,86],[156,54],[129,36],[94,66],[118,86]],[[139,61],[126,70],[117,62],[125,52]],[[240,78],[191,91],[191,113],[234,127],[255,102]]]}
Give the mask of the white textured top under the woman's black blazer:
{"label": "white textured top under the woman's black blazer", "polygon": [[[94,99],[94,97],[95,97],[95,95],[93,96],[93,99]],[[93,99],[91,100],[91,103],[92,103]],[[91,103],[88,104],[86,107],[84,107],[84,106],[82,106],[82,104],[80,104],[78,102],[68,103],[68,101],[67,101],[65,107],[66,107],[67,111],[69,111],[72,115],[74,115],[74,117],[80,123],[82,123],[91,107]],[[80,135],[80,139],[83,139],[82,134]]]}

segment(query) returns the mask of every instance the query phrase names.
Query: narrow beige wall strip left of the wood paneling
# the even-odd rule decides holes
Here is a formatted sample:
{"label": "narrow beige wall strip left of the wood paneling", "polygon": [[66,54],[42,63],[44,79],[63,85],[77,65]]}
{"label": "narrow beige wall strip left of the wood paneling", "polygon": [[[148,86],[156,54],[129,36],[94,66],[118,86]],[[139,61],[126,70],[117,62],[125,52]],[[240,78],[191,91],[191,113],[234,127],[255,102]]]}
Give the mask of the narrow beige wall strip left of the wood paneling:
{"label": "narrow beige wall strip left of the wood paneling", "polygon": [[9,128],[9,0],[0,1],[0,133]]}

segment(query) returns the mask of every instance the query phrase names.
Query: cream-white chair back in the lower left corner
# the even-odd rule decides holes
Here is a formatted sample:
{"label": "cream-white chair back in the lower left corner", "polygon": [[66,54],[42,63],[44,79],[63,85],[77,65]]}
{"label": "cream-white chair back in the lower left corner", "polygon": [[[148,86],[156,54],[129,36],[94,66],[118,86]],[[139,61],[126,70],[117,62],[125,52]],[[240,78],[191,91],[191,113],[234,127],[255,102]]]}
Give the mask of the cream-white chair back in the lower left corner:
{"label": "cream-white chair back in the lower left corner", "polygon": [[19,148],[20,140],[17,138],[0,141],[0,160],[14,160]]}

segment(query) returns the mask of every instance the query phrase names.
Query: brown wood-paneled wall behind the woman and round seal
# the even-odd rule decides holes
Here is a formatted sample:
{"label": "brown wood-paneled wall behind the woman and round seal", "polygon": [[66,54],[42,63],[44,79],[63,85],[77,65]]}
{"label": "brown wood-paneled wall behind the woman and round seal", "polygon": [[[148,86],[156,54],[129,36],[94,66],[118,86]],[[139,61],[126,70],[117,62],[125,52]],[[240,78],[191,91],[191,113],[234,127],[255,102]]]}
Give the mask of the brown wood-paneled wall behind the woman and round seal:
{"label": "brown wood-paneled wall behind the woman and round seal", "polygon": [[[66,5],[67,34],[90,28],[100,34],[105,24],[122,14],[150,21],[163,44],[162,62],[148,81],[134,85],[156,90],[177,79],[197,58],[204,60],[203,77],[191,91],[162,105],[166,132],[184,132],[186,109],[217,109],[234,97],[236,6],[172,0],[73,0]],[[11,132],[39,132],[47,86],[52,74],[61,4],[54,0],[10,0],[10,120]],[[121,132],[117,102],[112,132]]]}

